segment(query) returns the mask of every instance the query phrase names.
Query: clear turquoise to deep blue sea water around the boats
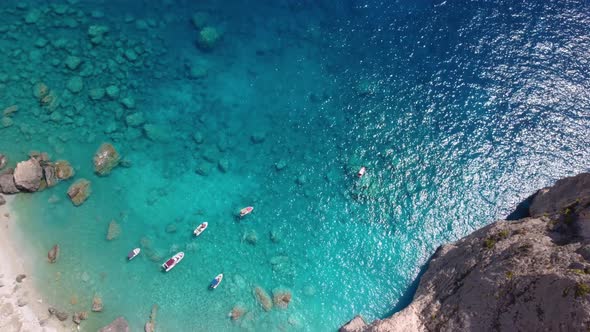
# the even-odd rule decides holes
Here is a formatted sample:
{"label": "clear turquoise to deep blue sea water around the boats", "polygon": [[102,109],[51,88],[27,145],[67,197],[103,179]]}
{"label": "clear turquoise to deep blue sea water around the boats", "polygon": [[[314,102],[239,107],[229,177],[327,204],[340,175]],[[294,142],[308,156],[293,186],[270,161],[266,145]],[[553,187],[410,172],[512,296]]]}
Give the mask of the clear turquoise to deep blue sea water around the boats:
{"label": "clear turquoise to deep blue sea water around the boats", "polygon": [[[0,152],[14,166],[46,151],[92,182],[80,207],[65,194],[72,180],[15,201],[34,279],[72,312],[100,295],[104,312],[86,331],[120,315],[140,330],[153,304],[162,331],[333,331],[359,313],[387,316],[408,303],[438,245],[588,170],[588,9],[4,1],[0,109],[19,110],[3,122]],[[210,50],[196,46],[197,12],[222,35]],[[109,28],[97,45],[91,25]],[[68,55],[79,67],[65,66]],[[77,93],[67,88],[74,76]],[[34,96],[38,82],[54,107]],[[110,85],[119,97],[89,97]],[[136,112],[153,127],[126,121]],[[131,167],[96,176],[102,142]],[[248,205],[254,212],[237,219]],[[107,241],[111,220],[122,232]],[[209,228],[195,239],[202,221]],[[162,273],[180,250],[184,260]],[[266,312],[256,286],[293,299]],[[234,322],[235,305],[247,313]]]}

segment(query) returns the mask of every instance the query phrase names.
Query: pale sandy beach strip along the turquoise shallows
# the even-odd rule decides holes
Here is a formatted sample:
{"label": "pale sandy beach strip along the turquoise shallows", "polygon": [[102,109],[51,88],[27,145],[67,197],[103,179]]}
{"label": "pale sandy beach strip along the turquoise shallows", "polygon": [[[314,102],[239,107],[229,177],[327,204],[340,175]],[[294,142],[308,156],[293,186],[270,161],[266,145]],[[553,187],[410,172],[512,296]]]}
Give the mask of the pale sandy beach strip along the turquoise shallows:
{"label": "pale sandy beach strip along the turquoise shallows", "polygon": [[[16,242],[17,216],[11,210],[15,197],[4,195],[6,204],[0,206],[0,331],[72,331],[71,319],[60,322],[49,317],[49,306],[34,286],[33,269],[23,259]],[[26,277],[19,283],[17,276]]]}

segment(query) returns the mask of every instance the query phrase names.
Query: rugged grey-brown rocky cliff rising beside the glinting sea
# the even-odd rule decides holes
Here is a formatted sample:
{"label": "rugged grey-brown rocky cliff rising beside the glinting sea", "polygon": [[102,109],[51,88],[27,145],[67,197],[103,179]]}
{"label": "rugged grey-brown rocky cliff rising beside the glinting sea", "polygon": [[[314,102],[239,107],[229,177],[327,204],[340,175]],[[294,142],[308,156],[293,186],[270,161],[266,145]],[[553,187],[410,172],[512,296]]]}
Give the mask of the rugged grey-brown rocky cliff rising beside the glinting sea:
{"label": "rugged grey-brown rocky cliff rising beside the glinting sea", "polygon": [[590,330],[590,174],[539,190],[529,213],[441,246],[408,307],[340,331]]}

